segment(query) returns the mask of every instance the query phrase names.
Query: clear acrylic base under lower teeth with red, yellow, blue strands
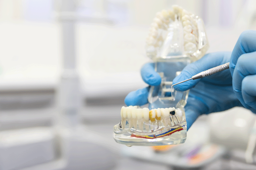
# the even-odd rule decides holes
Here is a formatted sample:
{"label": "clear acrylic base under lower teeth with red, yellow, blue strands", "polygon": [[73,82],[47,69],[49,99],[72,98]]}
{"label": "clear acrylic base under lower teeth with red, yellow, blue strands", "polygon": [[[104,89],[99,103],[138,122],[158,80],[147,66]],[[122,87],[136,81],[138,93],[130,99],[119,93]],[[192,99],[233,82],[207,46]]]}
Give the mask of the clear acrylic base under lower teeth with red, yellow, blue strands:
{"label": "clear acrylic base under lower teeth with red, yellow, blue strands", "polygon": [[[170,120],[173,117],[170,116]],[[129,123],[126,122],[125,128],[120,127],[120,123],[114,126],[113,137],[117,143],[127,146],[142,145],[142,146],[157,146],[183,144],[187,137],[187,122],[183,119],[177,125],[165,127],[157,126],[157,123],[145,123],[142,130],[136,130],[134,127],[129,128]],[[145,128],[146,126],[146,128]]]}

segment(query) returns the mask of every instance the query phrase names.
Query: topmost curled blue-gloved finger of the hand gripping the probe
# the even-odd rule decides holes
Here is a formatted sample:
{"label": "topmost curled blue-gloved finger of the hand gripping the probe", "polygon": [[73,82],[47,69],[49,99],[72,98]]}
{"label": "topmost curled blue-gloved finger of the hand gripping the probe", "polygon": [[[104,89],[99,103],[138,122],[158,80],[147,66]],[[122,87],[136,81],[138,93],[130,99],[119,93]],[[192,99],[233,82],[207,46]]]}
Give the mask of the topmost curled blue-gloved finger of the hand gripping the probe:
{"label": "topmost curled blue-gloved finger of the hand gripping the probe", "polygon": [[234,70],[235,70],[238,58],[242,54],[256,51],[255,41],[256,41],[256,31],[254,30],[244,31],[239,36],[236,42],[236,45],[232,51],[230,63],[229,63],[229,70],[232,76],[234,74]]}

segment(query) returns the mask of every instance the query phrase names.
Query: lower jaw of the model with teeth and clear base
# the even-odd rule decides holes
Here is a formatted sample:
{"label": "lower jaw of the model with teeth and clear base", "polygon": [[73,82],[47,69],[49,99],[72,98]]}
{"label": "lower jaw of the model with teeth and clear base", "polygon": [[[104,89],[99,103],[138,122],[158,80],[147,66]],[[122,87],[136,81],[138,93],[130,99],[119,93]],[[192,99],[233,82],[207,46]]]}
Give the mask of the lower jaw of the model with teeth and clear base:
{"label": "lower jaw of the model with teeth and clear base", "polygon": [[180,144],[186,140],[187,123],[182,108],[122,107],[121,122],[114,126],[117,143],[143,146]]}

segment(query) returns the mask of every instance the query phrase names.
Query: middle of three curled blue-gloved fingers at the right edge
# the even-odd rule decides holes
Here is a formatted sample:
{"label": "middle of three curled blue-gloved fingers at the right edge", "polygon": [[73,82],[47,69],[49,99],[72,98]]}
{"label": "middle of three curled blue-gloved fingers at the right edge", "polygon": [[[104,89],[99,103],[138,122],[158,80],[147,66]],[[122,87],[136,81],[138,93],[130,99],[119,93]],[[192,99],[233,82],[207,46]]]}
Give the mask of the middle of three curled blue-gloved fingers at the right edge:
{"label": "middle of three curled blue-gloved fingers at the right edge", "polygon": [[[246,108],[250,108],[250,106],[245,103],[242,95],[242,84],[243,84],[242,81],[246,76],[255,75],[255,74],[256,74],[256,51],[241,55],[236,62],[236,67],[233,72],[233,90],[238,100]],[[256,88],[255,79],[250,83],[252,85],[252,88]],[[245,86],[245,87],[248,87],[248,86]],[[245,87],[244,87],[244,90],[245,90]]]}

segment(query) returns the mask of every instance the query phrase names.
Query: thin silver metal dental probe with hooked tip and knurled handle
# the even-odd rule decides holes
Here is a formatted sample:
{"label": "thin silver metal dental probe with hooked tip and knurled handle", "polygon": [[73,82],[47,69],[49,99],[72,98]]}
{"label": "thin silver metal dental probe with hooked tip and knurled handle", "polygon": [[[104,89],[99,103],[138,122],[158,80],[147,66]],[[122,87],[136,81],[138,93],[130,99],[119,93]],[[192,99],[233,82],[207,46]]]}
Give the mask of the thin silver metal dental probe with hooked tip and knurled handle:
{"label": "thin silver metal dental probe with hooked tip and knurled handle", "polygon": [[[222,65],[219,65],[217,67],[213,67],[213,68],[211,68],[209,70],[202,71],[202,72],[196,74],[195,76],[192,76],[192,78],[184,80],[184,81],[182,81],[180,83],[183,83],[183,82],[191,80],[191,79],[196,80],[196,79],[199,79],[199,78],[210,76],[210,75],[212,75],[214,73],[217,73],[217,72],[220,72],[220,71],[223,71],[223,70],[226,70],[226,69],[229,69],[229,62],[225,63],[225,64],[222,64]],[[176,83],[174,85],[178,85],[180,83]],[[174,86],[174,85],[172,85],[172,86]],[[171,87],[171,91],[172,91],[172,87]]]}

